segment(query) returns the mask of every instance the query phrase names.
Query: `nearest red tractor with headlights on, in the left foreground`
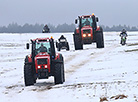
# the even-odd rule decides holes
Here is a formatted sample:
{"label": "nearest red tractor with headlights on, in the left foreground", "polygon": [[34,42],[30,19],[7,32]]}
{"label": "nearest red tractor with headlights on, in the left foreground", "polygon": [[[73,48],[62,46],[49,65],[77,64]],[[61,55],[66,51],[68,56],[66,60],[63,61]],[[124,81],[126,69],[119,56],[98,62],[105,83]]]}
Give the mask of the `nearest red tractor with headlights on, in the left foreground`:
{"label": "nearest red tractor with headlights on, in the left foreground", "polygon": [[[31,40],[31,54],[24,63],[25,86],[34,85],[36,79],[48,79],[54,76],[55,84],[63,84],[64,60],[62,54],[55,52],[53,38],[37,38]],[[26,45],[29,49],[29,43]]]}

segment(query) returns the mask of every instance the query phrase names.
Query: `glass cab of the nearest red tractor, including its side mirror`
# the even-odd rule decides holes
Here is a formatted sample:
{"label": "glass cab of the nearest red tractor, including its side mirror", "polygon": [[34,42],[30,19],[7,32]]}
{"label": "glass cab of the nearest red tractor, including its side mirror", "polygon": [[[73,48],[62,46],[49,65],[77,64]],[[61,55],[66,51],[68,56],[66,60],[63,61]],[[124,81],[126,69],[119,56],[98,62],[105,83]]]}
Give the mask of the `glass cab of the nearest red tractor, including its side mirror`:
{"label": "glass cab of the nearest red tractor, including its side mirror", "polygon": [[[55,58],[55,47],[54,40],[51,38],[36,38],[31,40],[32,44],[32,59],[44,58],[45,56],[50,56],[51,58]],[[27,49],[29,49],[29,44],[26,45]]]}

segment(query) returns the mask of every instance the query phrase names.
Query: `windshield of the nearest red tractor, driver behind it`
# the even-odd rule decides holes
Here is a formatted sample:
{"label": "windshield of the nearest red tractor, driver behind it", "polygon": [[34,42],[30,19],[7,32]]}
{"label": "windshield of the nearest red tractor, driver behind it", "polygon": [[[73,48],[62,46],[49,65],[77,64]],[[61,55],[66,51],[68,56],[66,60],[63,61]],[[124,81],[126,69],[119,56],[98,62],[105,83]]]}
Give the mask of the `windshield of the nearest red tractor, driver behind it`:
{"label": "windshield of the nearest red tractor, driver behind it", "polygon": [[50,53],[50,42],[36,42],[36,54],[40,52]]}

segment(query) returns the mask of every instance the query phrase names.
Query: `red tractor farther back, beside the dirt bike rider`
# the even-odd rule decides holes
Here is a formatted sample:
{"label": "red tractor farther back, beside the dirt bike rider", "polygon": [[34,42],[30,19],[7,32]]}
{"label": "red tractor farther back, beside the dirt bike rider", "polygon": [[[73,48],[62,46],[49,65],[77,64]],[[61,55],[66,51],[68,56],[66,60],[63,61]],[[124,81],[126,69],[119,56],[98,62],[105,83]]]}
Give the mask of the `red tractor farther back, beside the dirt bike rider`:
{"label": "red tractor farther back, beside the dirt bike rider", "polygon": [[[79,21],[79,23],[78,23]],[[83,44],[96,42],[97,48],[104,48],[102,27],[97,26],[98,17],[92,15],[78,16],[75,23],[78,27],[73,34],[75,50],[83,49]]]}

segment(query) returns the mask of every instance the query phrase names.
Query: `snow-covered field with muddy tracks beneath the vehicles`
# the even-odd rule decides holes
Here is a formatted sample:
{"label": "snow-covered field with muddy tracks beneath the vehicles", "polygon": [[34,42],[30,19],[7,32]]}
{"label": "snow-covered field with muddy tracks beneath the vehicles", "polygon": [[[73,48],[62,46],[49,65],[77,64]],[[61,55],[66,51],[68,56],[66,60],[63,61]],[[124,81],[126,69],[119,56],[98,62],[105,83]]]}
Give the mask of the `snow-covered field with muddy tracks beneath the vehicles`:
{"label": "snow-covered field with muddy tracks beneath the vehicles", "polygon": [[25,87],[24,58],[29,39],[61,34],[0,34],[0,102],[138,102],[138,32],[128,32],[121,46],[119,32],[104,32],[105,48],[96,44],[74,50],[71,33],[65,33],[70,51],[62,50],[66,81],[53,77]]}

